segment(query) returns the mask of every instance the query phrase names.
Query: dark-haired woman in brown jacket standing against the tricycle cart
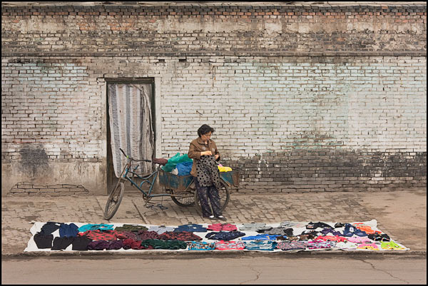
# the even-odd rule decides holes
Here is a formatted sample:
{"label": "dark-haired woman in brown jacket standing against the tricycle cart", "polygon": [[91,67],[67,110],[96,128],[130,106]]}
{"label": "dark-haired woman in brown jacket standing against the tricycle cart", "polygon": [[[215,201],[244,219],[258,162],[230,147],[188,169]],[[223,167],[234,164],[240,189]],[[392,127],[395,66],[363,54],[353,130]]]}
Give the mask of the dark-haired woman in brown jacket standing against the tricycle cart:
{"label": "dark-haired woman in brown jacket standing against the tricycle cart", "polygon": [[[188,156],[193,159],[190,175],[195,178],[203,218],[226,220],[221,213],[220,196],[218,195],[220,172],[215,161],[220,160],[220,153],[215,142],[210,139],[213,132],[213,128],[203,124],[198,129],[199,137],[190,143]],[[208,199],[213,213],[211,213]]]}

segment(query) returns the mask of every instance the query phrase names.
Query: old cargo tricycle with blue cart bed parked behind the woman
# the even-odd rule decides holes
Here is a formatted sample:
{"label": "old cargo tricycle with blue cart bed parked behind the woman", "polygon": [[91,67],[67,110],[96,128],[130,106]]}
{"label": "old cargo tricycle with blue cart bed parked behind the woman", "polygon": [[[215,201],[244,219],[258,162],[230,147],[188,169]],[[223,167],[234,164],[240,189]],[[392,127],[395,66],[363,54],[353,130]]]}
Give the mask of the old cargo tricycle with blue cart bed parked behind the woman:
{"label": "old cargo tricycle with blue cart bed parked behind the woman", "polygon": [[[195,205],[195,202],[198,202],[196,203],[196,207],[199,210],[201,209],[198,199],[198,192],[196,192],[195,190],[195,183],[192,175],[178,176],[163,171],[161,169],[161,165],[165,165],[166,163],[168,163],[167,159],[153,158],[153,160],[137,160],[132,158],[131,156],[126,155],[126,153],[121,148],[119,148],[119,150],[121,150],[123,155],[126,156],[127,162],[122,170],[121,175],[119,176],[118,183],[116,183],[116,186],[108,195],[106,208],[104,208],[104,219],[110,220],[111,218],[113,218],[113,215],[115,215],[116,211],[118,210],[123,198],[123,193],[125,192],[125,184],[123,183],[123,181],[126,180],[128,180],[131,185],[135,186],[138,190],[140,190],[141,193],[143,193],[143,200],[145,202],[144,205],[147,205],[147,203],[149,203],[152,198],[168,196],[173,200],[174,203],[176,203],[180,207],[187,208],[192,205]],[[132,170],[133,161],[154,163],[157,164],[157,166],[153,173],[151,173],[150,175],[138,175],[137,173],[135,173],[136,169],[138,168],[138,165]],[[161,175],[159,176],[159,183],[165,188],[165,193],[153,194],[153,186],[160,172]],[[230,172],[230,174],[228,175],[221,176],[222,188],[218,190],[220,195],[220,202],[222,202],[221,210],[224,210],[229,202],[230,193],[228,186],[230,185],[230,182],[232,182],[233,185],[238,184],[238,173],[235,173],[234,175],[232,173],[233,172]],[[141,183],[139,186],[133,180],[133,178],[131,178],[130,174],[133,178],[137,177],[141,179]],[[148,183],[148,185],[150,185],[149,190],[143,190],[143,183]]]}

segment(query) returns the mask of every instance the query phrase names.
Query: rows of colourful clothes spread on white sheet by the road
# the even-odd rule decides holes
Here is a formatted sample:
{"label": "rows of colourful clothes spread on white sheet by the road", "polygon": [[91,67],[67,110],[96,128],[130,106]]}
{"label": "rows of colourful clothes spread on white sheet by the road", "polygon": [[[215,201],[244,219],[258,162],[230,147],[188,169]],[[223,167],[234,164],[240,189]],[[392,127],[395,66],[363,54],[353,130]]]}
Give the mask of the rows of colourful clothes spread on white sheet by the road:
{"label": "rows of colourful clothes spread on white sheet by the road", "polygon": [[377,228],[376,220],[357,223],[283,221],[185,225],[48,222],[34,223],[30,231],[33,236],[24,252],[409,250],[392,240],[387,233],[382,233]]}

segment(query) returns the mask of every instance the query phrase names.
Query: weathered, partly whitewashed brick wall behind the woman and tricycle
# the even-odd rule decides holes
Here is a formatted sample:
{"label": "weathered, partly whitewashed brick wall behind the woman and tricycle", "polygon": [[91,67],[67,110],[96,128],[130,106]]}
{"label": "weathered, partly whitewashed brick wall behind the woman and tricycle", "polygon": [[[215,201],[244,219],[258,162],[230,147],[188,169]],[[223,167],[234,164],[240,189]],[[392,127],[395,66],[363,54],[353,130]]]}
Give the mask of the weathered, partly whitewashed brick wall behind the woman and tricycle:
{"label": "weathered, partly whitewashed brick wall behind the woman and tricycle", "polygon": [[158,156],[213,126],[239,192],[421,187],[426,66],[419,4],[2,6],[2,192],[106,193],[106,78],[155,79]]}

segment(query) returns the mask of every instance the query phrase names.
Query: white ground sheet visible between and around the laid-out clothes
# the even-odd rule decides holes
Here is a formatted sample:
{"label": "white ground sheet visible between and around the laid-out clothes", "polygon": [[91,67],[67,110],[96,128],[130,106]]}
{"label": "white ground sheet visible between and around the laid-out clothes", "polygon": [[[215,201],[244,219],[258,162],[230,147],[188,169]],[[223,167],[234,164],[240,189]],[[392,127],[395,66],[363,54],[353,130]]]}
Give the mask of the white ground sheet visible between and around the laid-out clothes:
{"label": "white ground sheet visible between and around the laid-out clothes", "polygon": [[[312,222],[316,223],[317,221],[312,221]],[[74,223],[79,228],[81,226],[83,226],[83,225],[88,224],[88,223],[75,223],[75,222],[68,222],[66,224],[69,224],[69,223]],[[213,221],[213,223],[219,223],[219,222]],[[307,225],[307,223],[310,223],[310,222],[293,222],[293,223],[298,223],[299,226],[302,225],[302,227],[298,227],[298,228],[297,227],[293,227],[292,228],[293,229],[293,233],[295,235],[299,235],[304,230],[307,230],[305,228],[305,225]],[[323,222],[323,223],[327,223],[328,225],[332,225],[332,226],[335,225],[335,223],[332,223],[332,222]],[[369,221],[365,221],[365,222],[353,222],[353,223],[364,223],[365,225],[370,226],[370,228],[372,228],[372,230],[378,230],[378,231],[382,232],[382,230],[379,230],[377,228],[377,220],[369,220]],[[353,224],[353,223],[350,223],[350,224]],[[36,222],[31,227],[30,231],[31,231],[32,237],[30,238],[30,240],[28,242],[28,245],[27,245],[26,249],[24,250],[24,252],[32,252],[32,251],[50,251],[50,252],[71,251],[71,252],[76,252],[76,251],[78,251],[78,250],[71,250],[72,245],[69,245],[65,250],[39,249],[37,247],[37,245],[36,245],[36,242],[34,242],[34,235],[41,230],[41,228],[42,228],[42,226],[44,224],[45,223]],[[126,224],[126,223],[108,223],[108,225],[113,225],[113,229],[116,228],[116,227],[122,226],[123,224]],[[146,226],[147,228],[150,228],[151,226],[159,226],[159,225],[146,225],[146,224],[136,224],[136,223],[132,223],[132,224],[133,225],[143,225],[143,226]],[[200,223],[200,225],[202,225],[204,228],[208,228],[208,225],[210,225],[210,224]],[[233,223],[231,223],[231,224],[233,224]],[[243,224],[234,224],[234,225],[237,226],[237,228],[238,228],[238,230],[240,232],[245,233],[245,236],[260,234],[260,233],[257,233],[256,231],[240,230],[240,226],[243,226]],[[178,227],[178,225],[166,225],[166,226],[169,226],[169,227],[172,227],[172,228],[177,228]],[[280,226],[280,223],[266,223],[266,226],[267,227],[272,227],[272,228],[277,228],[277,227]],[[320,229],[318,229],[318,230],[320,230]],[[344,230],[344,228],[335,228],[335,230],[340,231],[342,233],[343,230]],[[200,240],[200,241],[205,241],[205,242],[216,242],[216,241],[218,241],[218,240],[209,240],[208,238],[205,238],[205,235],[207,233],[210,233],[211,231],[212,230],[207,230],[206,232],[193,232],[193,233],[195,235],[198,235],[200,238],[203,239],[203,240]],[[54,238],[59,237],[59,230],[54,231],[54,233],[52,233],[52,234],[54,235]],[[387,234],[387,235],[389,235],[389,234]],[[354,237],[357,237],[357,236],[354,235]],[[237,241],[237,240],[240,240],[240,238],[235,239],[233,241]],[[248,241],[248,240],[246,240],[246,241]],[[279,241],[280,240],[277,240],[277,242],[279,242]],[[409,250],[409,248],[405,247],[404,245],[401,245],[399,242],[393,240],[392,238],[391,238],[391,241],[397,243],[397,245],[399,245],[400,247],[403,247],[402,251],[403,250]],[[379,249],[380,249],[380,244],[379,244]],[[357,250],[355,250],[355,249],[347,249],[347,248],[340,248],[340,247],[325,248],[325,249],[286,250],[286,251],[287,252],[290,252],[290,251],[297,252],[297,251],[326,251],[326,250],[379,251],[379,250],[367,250],[367,249],[357,249]],[[138,252],[141,252],[141,251],[189,251],[189,250],[183,250],[183,249],[180,249],[180,250],[164,250],[164,249],[158,249],[158,250],[133,250],[133,249],[128,249],[128,250],[124,250],[123,248],[121,248],[120,250],[87,250],[87,251],[95,251],[95,252],[100,252],[100,251],[135,252],[135,251],[138,251]],[[273,251],[267,251],[267,250],[190,250],[190,251],[198,251],[198,252],[200,252],[200,251],[263,251],[263,252],[278,252],[278,251],[284,251],[284,250],[275,249]],[[382,249],[380,249],[380,251],[390,251],[390,250],[382,250]],[[394,250],[394,251],[397,251],[397,250]]]}

